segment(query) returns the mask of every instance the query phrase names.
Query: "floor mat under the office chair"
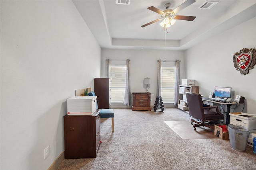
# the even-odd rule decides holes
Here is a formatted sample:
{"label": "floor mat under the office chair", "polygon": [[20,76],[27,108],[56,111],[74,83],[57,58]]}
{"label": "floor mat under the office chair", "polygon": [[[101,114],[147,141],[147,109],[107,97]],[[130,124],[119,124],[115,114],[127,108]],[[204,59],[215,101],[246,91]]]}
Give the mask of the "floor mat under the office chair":
{"label": "floor mat under the office chair", "polygon": [[[194,130],[191,121],[164,121],[182,139],[212,139],[218,138],[214,135],[214,129],[208,127],[196,127]],[[193,123],[194,124],[194,123]]]}

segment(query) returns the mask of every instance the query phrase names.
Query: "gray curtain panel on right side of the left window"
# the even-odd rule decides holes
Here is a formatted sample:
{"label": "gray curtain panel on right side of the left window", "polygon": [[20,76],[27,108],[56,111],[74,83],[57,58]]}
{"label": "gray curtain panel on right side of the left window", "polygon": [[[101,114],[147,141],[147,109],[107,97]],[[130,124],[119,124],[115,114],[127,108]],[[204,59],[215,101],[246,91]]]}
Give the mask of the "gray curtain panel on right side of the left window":
{"label": "gray curtain panel on right side of the left window", "polygon": [[126,60],[126,83],[125,83],[125,94],[124,94],[124,106],[131,106],[131,90],[130,90],[130,60]]}

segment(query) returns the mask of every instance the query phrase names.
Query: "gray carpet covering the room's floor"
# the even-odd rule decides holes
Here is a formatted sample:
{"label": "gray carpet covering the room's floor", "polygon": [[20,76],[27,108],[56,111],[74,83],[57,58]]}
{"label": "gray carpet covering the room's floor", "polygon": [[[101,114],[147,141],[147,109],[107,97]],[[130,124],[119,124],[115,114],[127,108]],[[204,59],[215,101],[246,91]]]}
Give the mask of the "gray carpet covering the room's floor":
{"label": "gray carpet covering the room's floor", "polygon": [[[164,121],[188,121],[179,109],[132,111],[114,109],[111,119],[102,119],[97,158],[64,160],[58,170],[255,170],[256,154],[230,147],[228,140],[182,139]],[[193,128],[192,128],[193,129]],[[212,133],[212,132],[210,132]]]}

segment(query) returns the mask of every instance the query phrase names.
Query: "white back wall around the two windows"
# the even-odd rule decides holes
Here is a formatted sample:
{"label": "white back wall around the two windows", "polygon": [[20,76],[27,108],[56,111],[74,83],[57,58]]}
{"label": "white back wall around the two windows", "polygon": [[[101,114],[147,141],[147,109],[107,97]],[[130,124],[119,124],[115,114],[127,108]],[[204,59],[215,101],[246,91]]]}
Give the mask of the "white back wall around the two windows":
{"label": "white back wall around the two windows", "polygon": [[[180,60],[180,75],[184,76],[184,52],[183,51],[168,51],[168,50],[118,50],[118,49],[102,49],[102,77],[106,77],[106,59],[110,59],[110,64],[117,61],[111,60],[126,60],[130,59],[130,85],[131,92],[146,92],[143,88],[144,78],[151,78],[149,92],[151,92],[151,106],[154,106],[156,99],[157,86],[157,68],[158,59],[164,64],[175,65],[175,62],[164,62]],[[126,61],[119,63],[126,64]],[[167,108],[167,105],[164,104]],[[172,104],[173,106],[173,104]]]}

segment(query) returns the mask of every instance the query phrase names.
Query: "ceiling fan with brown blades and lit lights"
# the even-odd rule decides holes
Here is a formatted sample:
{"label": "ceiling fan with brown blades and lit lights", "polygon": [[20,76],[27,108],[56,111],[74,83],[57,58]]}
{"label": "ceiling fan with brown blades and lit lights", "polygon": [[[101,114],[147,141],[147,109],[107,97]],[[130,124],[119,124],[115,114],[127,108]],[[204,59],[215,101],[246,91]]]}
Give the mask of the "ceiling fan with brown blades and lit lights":
{"label": "ceiling fan with brown blades and lit lights", "polygon": [[146,23],[145,25],[142,25],[141,27],[146,27],[146,26],[148,26],[152,23],[163,20],[160,23],[160,25],[162,27],[164,27],[165,29],[167,29],[168,27],[173,25],[176,20],[193,21],[196,17],[193,17],[193,16],[179,16],[179,15],[176,15],[176,13],[183,10],[184,8],[190,6],[194,2],[196,2],[196,0],[187,0],[186,2],[184,2],[183,4],[181,4],[180,6],[175,8],[174,10],[169,10],[169,7],[170,7],[171,4],[167,3],[167,4],[164,5],[164,7],[166,8],[166,10],[164,10],[164,11],[161,11],[158,8],[154,7],[154,6],[150,6],[150,7],[148,7],[148,9],[153,11],[153,12],[156,12],[156,13],[160,14],[161,18],[159,18],[157,20],[154,20],[154,21],[151,21],[149,23]]}

